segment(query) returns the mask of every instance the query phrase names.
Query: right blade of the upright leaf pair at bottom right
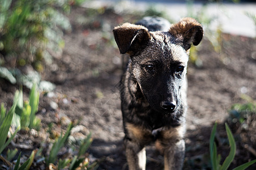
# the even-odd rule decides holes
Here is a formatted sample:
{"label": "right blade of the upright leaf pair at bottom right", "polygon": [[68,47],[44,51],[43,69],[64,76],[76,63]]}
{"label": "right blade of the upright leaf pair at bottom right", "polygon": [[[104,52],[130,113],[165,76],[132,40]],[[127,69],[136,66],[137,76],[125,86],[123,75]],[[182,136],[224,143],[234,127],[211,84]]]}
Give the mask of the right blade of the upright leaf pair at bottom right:
{"label": "right blade of the upright leaf pair at bottom right", "polygon": [[236,155],[236,141],[234,141],[233,134],[231,130],[229,129],[228,124],[225,123],[225,128],[226,128],[226,134],[228,135],[228,141],[229,141],[229,146],[230,146],[230,151],[229,155],[226,157],[224,160],[223,165],[221,165],[221,170],[226,170],[228,169],[229,165],[232,163],[234,156]]}

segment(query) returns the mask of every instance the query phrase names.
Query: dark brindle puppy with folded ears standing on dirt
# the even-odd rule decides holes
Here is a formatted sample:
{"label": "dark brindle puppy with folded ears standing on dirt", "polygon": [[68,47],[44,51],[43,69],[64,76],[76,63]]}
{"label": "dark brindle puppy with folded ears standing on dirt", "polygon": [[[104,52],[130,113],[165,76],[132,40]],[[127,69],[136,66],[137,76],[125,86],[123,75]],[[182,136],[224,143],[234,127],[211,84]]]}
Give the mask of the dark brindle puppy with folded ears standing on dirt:
{"label": "dark brindle puppy with folded ears standing on dirt", "polygon": [[130,56],[121,80],[129,169],[145,169],[145,146],[152,142],[164,155],[165,169],[181,169],[188,53],[202,40],[202,25],[184,18],[168,32],[150,32],[125,23],[114,28],[114,36],[120,52]]}

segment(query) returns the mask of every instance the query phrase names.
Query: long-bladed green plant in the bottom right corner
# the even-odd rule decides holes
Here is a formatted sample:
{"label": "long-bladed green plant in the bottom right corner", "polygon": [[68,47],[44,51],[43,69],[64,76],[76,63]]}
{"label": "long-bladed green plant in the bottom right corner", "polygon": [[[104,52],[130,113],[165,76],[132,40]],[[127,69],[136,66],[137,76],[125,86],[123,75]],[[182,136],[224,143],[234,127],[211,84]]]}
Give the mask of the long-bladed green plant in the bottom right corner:
{"label": "long-bladed green plant in the bottom right corner", "polygon": [[[221,156],[217,155],[217,146],[215,143],[215,134],[217,129],[217,123],[213,126],[211,137],[210,137],[210,143],[209,143],[209,151],[210,151],[210,158],[212,163],[212,169],[213,170],[226,170],[228,169],[229,165],[232,163],[234,156],[236,155],[236,142],[234,141],[234,137],[232,134],[232,131],[229,129],[228,124],[225,124],[226,133],[228,135],[228,141],[230,146],[230,152],[229,155],[225,158],[223,164],[220,164]],[[242,164],[238,166],[237,168],[234,168],[235,170],[242,170],[247,167],[249,167],[251,164],[256,163],[256,160],[252,160],[251,162]],[[233,170],[234,170],[233,169]]]}

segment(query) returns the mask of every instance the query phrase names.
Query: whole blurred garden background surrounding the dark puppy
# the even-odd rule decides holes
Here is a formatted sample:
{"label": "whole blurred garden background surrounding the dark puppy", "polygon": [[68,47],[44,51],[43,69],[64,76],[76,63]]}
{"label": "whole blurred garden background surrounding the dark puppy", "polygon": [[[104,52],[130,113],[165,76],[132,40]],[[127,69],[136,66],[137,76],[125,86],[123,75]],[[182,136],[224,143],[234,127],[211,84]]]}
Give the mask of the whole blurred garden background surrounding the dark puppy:
{"label": "whole blurred garden background surrounding the dark puppy", "polygon": [[[204,27],[187,70],[183,169],[212,169],[230,150],[229,169],[256,159],[255,1],[2,0],[0,169],[128,169],[119,97],[128,56],[112,29],[144,16]],[[154,145],[146,152],[146,168],[162,169]]]}

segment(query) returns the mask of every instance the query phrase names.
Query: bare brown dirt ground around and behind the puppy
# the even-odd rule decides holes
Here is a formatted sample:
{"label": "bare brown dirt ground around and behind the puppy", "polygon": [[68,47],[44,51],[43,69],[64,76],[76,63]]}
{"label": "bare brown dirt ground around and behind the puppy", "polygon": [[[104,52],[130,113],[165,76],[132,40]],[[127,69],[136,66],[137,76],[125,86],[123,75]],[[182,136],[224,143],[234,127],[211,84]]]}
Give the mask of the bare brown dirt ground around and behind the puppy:
{"label": "bare brown dirt ground around and behind the puppy", "polygon": [[[93,15],[93,16],[91,16]],[[44,80],[56,84],[53,92],[40,96],[37,116],[43,128],[51,122],[79,120],[83,134],[93,134],[89,149],[91,161],[102,158],[98,169],[127,169],[122,140],[124,137],[120,111],[118,83],[123,58],[115,45],[112,28],[123,22],[140,19],[138,15],[116,14],[102,8],[92,11],[75,8],[69,16],[72,32],[64,35],[62,55],[55,55],[53,64],[45,66]],[[92,18],[92,19],[90,19]],[[209,135],[213,123],[219,122],[220,139],[226,138],[224,121],[235,103],[245,103],[242,94],[256,99],[255,39],[223,34],[222,50],[215,52],[204,39],[198,47],[202,66],[188,66],[188,116],[186,158],[184,169],[209,169]],[[0,81],[1,102],[11,104],[18,86]],[[24,89],[26,94],[28,90]],[[245,144],[256,148],[256,121],[249,130],[233,133],[237,143],[236,159],[231,167],[255,159]],[[233,127],[233,126],[232,126]],[[240,134],[245,134],[242,138]],[[244,140],[242,140],[244,139]],[[227,145],[219,144],[218,151],[228,155]],[[147,169],[161,169],[163,157],[154,146],[147,148]],[[256,165],[249,169],[255,169]]]}

